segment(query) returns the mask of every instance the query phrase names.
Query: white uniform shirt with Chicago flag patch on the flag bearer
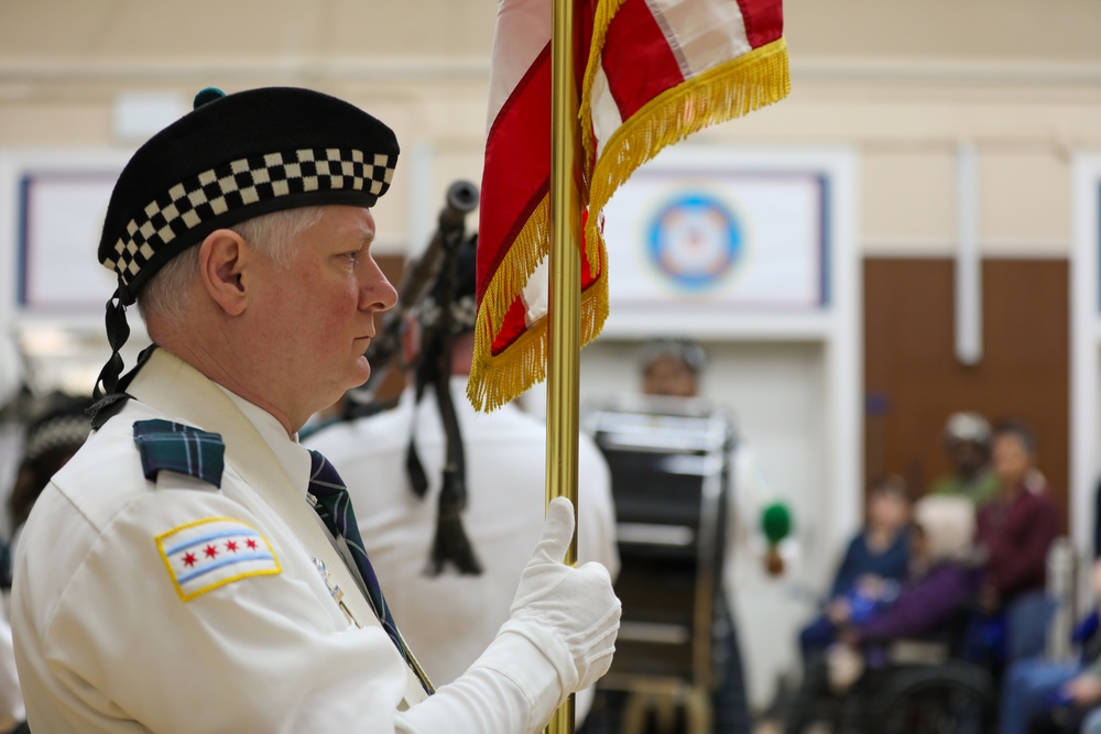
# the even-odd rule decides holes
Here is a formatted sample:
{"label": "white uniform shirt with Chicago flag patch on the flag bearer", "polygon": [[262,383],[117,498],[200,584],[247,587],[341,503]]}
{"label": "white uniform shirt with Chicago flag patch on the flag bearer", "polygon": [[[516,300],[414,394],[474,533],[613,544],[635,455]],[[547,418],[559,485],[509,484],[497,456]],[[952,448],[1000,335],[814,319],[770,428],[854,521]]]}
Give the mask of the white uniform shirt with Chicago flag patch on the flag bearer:
{"label": "white uniform shirt with Chicago flag patch on the flag bearer", "polygon": [[[396,648],[334,600],[335,580],[362,606],[306,505],[307,451],[163,349],[128,392],[135,399],[42,494],[18,551],[12,626],[36,734],[544,725],[564,691],[546,654],[513,633],[400,712],[408,677]],[[145,478],[133,425],[152,418],[222,436],[220,489],[167,471]],[[236,558],[247,547],[251,560]]]}

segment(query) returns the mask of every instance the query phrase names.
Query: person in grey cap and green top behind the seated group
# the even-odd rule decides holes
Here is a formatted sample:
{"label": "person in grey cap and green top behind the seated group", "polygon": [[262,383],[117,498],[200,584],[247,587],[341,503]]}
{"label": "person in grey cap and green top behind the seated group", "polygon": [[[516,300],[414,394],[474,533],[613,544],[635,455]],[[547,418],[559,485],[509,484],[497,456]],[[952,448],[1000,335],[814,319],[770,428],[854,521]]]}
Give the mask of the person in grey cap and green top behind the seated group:
{"label": "person in grey cap and green top behind the seated group", "polygon": [[929,487],[930,494],[960,494],[982,507],[998,494],[998,475],[990,467],[990,424],[978,413],[953,413],[945,425],[945,449],[952,472]]}

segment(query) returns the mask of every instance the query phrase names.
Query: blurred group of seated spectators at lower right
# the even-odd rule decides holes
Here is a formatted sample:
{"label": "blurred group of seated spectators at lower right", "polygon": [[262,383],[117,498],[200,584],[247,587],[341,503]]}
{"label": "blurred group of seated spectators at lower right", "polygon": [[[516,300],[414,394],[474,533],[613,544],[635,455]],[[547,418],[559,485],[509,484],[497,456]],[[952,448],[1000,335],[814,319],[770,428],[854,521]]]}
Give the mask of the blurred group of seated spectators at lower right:
{"label": "blurred group of seated spectators at lower right", "polygon": [[[945,448],[952,470],[919,499],[898,476],[869,487],[865,525],[799,635],[803,675],[785,715],[788,734],[816,722],[843,731],[846,701],[901,690],[883,680],[900,670],[916,680],[915,665],[929,690],[955,684],[971,695],[971,711],[955,704],[951,731],[1101,733],[1095,609],[1070,639],[1055,639],[1064,633],[1053,624],[1060,610],[1048,577],[1064,529],[1036,463],[1036,437],[1020,420],[991,426],[957,413]],[[1093,593],[1101,599],[1101,561]],[[1070,657],[1053,653],[1066,649]],[[863,708],[885,711],[875,701]]]}

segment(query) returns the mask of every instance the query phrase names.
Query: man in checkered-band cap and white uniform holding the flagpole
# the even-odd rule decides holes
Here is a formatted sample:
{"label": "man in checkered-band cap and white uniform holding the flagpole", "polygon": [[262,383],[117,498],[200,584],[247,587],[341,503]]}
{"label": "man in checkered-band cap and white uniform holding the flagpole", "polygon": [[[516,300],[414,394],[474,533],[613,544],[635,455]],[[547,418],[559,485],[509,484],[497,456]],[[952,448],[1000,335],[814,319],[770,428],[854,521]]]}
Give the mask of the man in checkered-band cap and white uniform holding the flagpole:
{"label": "man in checkered-band cap and white uniform holding the flagpole", "polygon": [[[560,563],[559,501],[500,634],[426,698],[339,475],[297,443],[394,305],[370,207],[396,156],[338,99],[206,90],[123,169],[107,397],[15,560],[32,730],[535,732],[607,670],[619,602],[602,567]],[[135,297],[159,348],[120,380]]]}

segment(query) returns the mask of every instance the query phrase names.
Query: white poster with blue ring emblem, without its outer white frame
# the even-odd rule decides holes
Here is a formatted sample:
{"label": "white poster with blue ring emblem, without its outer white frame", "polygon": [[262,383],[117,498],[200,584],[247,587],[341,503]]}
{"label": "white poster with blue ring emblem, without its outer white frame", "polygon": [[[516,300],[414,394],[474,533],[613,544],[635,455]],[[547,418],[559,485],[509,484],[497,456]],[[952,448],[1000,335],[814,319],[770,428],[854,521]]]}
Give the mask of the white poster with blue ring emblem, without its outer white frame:
{"label": "white poster with blue ring emblem, without its outer white frame", "polygon": [[640,171],[604,210],[611,309],[822,308],[828,190],[814,172]]}

